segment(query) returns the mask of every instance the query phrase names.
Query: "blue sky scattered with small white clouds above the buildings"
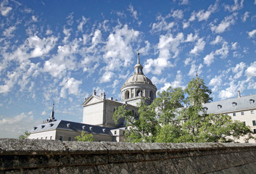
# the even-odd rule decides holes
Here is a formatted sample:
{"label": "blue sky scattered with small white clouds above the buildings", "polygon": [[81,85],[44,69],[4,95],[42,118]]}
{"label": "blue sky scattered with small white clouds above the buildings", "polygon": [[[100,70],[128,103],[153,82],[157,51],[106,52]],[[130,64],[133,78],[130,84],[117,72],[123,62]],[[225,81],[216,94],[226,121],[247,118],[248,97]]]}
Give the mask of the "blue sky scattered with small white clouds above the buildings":
{"label": "blue sky scattered with small white clouds above the buildings", "polygon": [[0,138],[51,114],[82,122],[96,90],[120,100],[137,52],[158,91],[199,75],[213,101],[256,94],[256,0],[0,1]]}

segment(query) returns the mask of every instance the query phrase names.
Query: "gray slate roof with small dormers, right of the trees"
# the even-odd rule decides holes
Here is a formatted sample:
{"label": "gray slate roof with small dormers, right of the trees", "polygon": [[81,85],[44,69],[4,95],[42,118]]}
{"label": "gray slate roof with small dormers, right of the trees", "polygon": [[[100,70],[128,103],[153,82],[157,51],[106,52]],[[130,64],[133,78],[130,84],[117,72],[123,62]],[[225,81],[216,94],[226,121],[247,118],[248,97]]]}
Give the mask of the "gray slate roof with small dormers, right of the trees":
{"label": "gray slate roof with small dormers, right of the trees", "polygon": [[256,94],[250,96],[241,96],[233,99],[214,101],[203,104],[207,113],[227,113],[241,110],[256,109]]}

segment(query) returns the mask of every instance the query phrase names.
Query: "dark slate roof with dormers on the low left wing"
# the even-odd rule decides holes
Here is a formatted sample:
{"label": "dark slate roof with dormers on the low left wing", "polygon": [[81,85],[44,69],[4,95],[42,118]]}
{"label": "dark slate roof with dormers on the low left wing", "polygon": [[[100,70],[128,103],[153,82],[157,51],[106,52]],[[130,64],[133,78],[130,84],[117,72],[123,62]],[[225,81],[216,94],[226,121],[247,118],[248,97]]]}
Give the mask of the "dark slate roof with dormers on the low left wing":
{"label": "dark slate roof with dormers on the low left wing", "polygon": [[55,130],[55,129],[64,129],[64,130],[73,130],[73,131],[79,131],[82,130],[87,133],[98,133],[98,134],[104,134],[112,136],[112,133],[110,130],[116,129],[116,128],[107,128],[99,125],[88,125],[84,123],[77,123],[67,120],[58,120],[51,123],[42,123],[40,125],[36,125],[32,130],[30,130],[30,133],[38,133],[41,131],[47,131],[47,130]]}

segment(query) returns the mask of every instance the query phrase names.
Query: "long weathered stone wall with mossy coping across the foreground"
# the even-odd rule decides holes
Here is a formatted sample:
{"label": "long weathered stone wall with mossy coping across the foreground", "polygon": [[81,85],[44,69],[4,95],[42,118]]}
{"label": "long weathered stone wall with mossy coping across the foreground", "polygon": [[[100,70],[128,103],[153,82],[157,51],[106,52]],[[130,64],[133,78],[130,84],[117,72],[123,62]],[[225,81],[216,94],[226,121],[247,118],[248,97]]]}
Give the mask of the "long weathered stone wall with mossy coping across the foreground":
{"label": "long weathered stone wall with mossy coping across the foreground", "polygon": [[256,173],[256,144],[0,139],[0,173]]}

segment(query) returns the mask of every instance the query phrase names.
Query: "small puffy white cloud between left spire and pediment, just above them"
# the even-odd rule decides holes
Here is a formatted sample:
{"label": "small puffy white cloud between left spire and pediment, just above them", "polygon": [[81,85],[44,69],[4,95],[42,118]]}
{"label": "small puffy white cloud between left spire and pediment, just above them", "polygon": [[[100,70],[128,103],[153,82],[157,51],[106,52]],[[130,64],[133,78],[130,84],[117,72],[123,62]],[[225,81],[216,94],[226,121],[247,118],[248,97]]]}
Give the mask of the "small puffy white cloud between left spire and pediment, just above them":
{"label": "small puffy white cloud between left spire and pediment, just above them", "polygon": [[79,96],[80,90],[79,86],[82,84],[80,80],[75,80],[75,78],[65,78],[62,80],[62,83],[60,83],[60,86],[63,86],[60,91],[60,97],[66,98],[66,91],[68,91],[68,94],[72,94],[75,96]]}

